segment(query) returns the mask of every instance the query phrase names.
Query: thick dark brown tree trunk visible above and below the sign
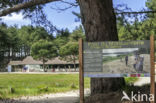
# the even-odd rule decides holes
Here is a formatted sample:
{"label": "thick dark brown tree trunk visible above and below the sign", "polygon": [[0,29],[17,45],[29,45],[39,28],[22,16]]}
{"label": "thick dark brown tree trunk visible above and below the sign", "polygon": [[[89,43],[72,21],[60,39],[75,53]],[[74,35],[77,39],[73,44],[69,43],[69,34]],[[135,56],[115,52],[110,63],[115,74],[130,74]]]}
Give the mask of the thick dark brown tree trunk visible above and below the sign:
{"label": "thick dark brown tree trunk visible above and below the sign", "polygon": [[[116,17],[112,0],[78,0],[86,40],[117,41]],[[91,95],[120,90],[124,78],[91,78]]]}

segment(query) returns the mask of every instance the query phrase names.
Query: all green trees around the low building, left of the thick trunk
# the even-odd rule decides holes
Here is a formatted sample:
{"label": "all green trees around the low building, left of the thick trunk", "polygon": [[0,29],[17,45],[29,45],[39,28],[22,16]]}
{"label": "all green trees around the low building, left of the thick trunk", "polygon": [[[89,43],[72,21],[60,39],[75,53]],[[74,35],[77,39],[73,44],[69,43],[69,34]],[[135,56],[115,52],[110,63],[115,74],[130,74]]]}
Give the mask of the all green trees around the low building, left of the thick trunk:
{"label": "all green trees around the low building, left of the thick trunk", "polygon": [[30,54],[34,59],[44,62],[47,59],[60,56],[61,59],[75,63],[75,60],[78,60],[77,41],[79,38],[84,38],[81,26],[72,33],[68,29],[62,29],[55,37],[43,27],[23,26],[17,28],[1,24],[0,28],[1,69],[5,69],[9,61],[22,60]]}

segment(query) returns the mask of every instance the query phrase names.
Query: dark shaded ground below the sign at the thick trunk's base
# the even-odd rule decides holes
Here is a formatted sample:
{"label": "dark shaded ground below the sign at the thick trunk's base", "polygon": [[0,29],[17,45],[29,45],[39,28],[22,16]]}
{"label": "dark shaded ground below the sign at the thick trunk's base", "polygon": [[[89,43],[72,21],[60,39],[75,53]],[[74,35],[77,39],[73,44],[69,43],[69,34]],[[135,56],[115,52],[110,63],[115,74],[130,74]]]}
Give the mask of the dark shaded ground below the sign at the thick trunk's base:
{"label": "dark shaded ground below the sign at the thick trunk's base", "polygon": [[141,102],[132,102],[126,100],[121,101],[123,97],[123,93],[122,93],[123,91],[125,91],[129,97],[131,97],[132,92],[137,96],[141,94],[147,94],[149,96],[150,84],[145,84],[143,86],[134,86],[134,85],[127,84],[122,88],[122,90],[119,90],[117,92],[104,93],[104,94],[100,93],[100,94],[88,96],[85,98],[85,103],[150,103],[150,101],[146,100],[146,98],[143,98],[143,101]]}

